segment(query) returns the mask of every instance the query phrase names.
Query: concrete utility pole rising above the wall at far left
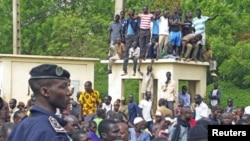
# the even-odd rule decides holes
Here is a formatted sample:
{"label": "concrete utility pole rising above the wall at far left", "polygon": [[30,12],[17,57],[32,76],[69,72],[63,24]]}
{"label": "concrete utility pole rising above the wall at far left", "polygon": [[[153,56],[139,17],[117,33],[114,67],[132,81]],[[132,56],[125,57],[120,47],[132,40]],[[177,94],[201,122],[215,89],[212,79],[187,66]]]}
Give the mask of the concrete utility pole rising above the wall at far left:
{"label": "concrete utility pole rising above the wall at far left", "polygon": [[12,0],[13,11],[13,54],[21,54],[20,2]]}

